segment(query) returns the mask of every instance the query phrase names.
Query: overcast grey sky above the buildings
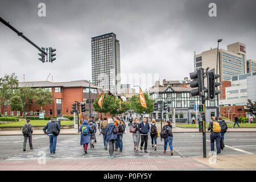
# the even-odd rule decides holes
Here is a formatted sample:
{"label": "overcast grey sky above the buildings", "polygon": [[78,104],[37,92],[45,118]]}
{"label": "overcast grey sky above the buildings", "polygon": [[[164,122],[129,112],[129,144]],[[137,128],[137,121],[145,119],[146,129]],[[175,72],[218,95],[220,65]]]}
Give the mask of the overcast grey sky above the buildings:
{"label": "overcast grey sky above the buildings", "polygon": [[[40,2],[46,17],[38,16]],[[217,17],[208,15],[212,2]],[[19,81],[49,73],[55,82],[92,80],[91,38],[109,32],[120,43],[121,73],[159,74],[160,82],[189,77],[194,51],[216,48],[219,38],[224,49],[246,44],[247,59],[256,60],[255,0],[1,0],[0,16],[39,47],[57,49],[56,60],[43,64],[35,47],[0,23],[0,77],[14,72]]]}

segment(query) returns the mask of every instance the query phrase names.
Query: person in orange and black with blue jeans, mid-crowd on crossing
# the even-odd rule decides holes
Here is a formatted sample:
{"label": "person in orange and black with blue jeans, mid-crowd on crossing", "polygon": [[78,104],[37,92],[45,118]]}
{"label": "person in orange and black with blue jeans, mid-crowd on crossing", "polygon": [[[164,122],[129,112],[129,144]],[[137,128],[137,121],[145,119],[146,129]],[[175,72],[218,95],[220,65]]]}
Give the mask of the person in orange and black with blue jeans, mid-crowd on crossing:
{"label": "person in orange and black with blue jeans, mid-crowd on crossing", "polygon": [[[115,140],[115,151],[123,151],[123,133],[125,132],[125,123],[119,121],[119,117],[115,117],[114,125],[118,127],[117,140]],[[119,144],[118,144],[119,143]]]}

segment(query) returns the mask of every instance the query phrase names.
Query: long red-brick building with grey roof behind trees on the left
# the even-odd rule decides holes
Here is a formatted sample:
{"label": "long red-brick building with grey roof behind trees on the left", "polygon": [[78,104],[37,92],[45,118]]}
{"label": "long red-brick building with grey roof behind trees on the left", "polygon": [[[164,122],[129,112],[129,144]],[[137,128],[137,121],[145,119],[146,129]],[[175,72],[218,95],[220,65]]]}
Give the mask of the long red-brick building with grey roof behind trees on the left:
{"label": "long red-brick building with grey roof behind trees on the left", "polygon": [[[70,82],[50,82],[50,81],[32,81],[32,82],[19,82],[19,88],[24,86],[30,86],[31,88],[44,88],[52,93],[53,101],[51,104],[47,104],[45,107],[40,105],[28,106],[27,116],[38,116],[41,110],[44,111],[45,117],[60,117],[62,115],[70,115],[72,110],[72,104],[75,101],[85,102],[85,108],[89,109],[89,82],[85,80],[70,81]],[[91,115],[94,117],[100,117],[100,113],[94,111],[92,103],[103,93],[104,90],[97,86],[90,84],[90,98],[91,98]],[[6,101],[1,106],[2,115],[17,115],[16,111],[10,110],[10,103]],[[24,115],[18,111],[18,115]],[[89,110],[84,113],[85,118],[89,117]]]}

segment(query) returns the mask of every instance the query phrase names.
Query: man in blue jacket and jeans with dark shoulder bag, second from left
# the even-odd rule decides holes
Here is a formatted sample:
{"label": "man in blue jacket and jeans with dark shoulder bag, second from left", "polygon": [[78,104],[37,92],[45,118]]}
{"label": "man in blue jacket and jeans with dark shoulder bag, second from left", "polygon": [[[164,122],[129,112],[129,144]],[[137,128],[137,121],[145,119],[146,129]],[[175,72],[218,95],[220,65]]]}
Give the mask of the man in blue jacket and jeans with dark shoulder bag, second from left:
{"label": "man in blue jacket and jeans with dark shoulder bag, second from left", "polygon": [[47,122],[46,126],[43,128],[44,134],[49,136],[49,148],[51,154],[55,154],[57,143],[57,136],[52,134],[54,128],[60,132],[60,125],[58,122],[54,121],[54,118],[51,118],[51,121]]}

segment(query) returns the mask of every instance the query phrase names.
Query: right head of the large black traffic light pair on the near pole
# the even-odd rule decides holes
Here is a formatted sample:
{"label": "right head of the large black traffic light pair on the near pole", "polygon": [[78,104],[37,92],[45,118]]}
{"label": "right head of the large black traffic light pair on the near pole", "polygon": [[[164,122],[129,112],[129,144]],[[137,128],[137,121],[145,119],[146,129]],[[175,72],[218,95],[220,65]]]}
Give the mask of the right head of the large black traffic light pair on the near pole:
{"label": "right head of the large black traffic light pair on the near pole", "polygon": [[220,75],[214,74],[214,68],[208,72],[207,81],[208,81],[208,98],[213,99],[217,94],[220,94],[220,90],[215,90],[216,87],[220,86],[219,82],[215,82]]}

